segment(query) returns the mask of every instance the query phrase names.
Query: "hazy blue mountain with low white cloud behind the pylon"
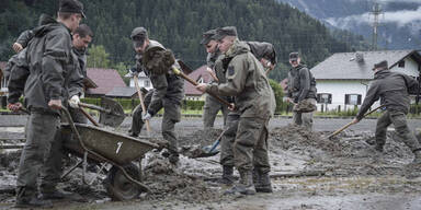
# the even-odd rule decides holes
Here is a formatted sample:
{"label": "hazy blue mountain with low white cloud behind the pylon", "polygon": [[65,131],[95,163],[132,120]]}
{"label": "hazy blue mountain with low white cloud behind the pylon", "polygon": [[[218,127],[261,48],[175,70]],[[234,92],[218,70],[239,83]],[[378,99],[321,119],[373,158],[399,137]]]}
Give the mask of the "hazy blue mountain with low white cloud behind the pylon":
{"label": "hazy blue mountain with low white cloud behind the pylon", "polygon": [[382,10],[377,45],[383,49],[421,49],[421,0],[277,0],[327,25],[361,34],[372,43],[374,2]]}

